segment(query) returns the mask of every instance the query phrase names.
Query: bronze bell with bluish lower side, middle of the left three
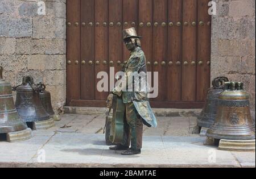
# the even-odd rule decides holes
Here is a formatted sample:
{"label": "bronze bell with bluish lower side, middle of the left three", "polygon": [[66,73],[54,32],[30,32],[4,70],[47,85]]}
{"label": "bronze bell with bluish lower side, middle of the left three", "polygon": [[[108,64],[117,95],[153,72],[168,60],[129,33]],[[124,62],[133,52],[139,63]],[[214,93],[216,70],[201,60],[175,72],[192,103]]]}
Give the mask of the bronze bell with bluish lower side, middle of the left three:
{"label": "bronze bell with bluish lower side, middle of the left three", "polygon": [[39,88],[30,76],[23,77],[22,84],[15,88],[15,106],[24,122],[49,120],[50,116],[39,99]]}

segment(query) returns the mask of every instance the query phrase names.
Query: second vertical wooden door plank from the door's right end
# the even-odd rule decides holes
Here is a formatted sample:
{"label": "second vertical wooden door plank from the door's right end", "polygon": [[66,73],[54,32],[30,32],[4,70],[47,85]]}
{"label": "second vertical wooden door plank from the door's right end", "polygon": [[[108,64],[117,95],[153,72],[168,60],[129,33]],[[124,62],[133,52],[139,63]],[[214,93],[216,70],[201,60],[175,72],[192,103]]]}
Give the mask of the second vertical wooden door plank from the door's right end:
{"label": "second vertical wooden door plank from the door's right end", "polygon": [[[197,0],[183,1],[182,101],[196,101]],[[187,23],[187,24],[185,24]]]}

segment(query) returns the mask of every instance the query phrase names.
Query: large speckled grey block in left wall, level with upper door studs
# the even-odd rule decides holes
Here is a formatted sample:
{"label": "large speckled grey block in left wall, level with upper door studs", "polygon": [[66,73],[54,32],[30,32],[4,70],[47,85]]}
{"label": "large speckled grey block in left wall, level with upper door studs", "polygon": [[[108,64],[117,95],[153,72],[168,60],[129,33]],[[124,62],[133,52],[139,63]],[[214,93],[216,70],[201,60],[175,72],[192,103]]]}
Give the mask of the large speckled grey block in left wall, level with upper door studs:
{"label": "large speckled grey block in left wall, level with upper door studs", "polygon": [[24,38],[32,36],[32,20],[27,18],[10,19],[9,36],[14,38]]}

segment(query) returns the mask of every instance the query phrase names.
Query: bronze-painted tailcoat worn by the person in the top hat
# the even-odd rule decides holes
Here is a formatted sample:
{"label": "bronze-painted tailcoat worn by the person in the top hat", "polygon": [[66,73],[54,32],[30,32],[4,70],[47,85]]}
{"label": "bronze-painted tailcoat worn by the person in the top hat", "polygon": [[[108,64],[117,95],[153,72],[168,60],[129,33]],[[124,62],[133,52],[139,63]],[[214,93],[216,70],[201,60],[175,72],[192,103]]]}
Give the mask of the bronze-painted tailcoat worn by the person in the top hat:
{"label": "bronze-painted tailcoat worn by the person in the top hat", "polygon": [[[141,115],[143,119],[143,123],[146,124],[146,126],[156,127],[156,118],[147,97],[149,86],[146,82],[146,57],[141,47],[137,47],[131,52],[130,58],[125,64],[123,64],[123,68],[125,74],[117,82],[113,93],[119,95],[120,97],[122,95],[123,103],[133,102],[139,115]],[[132,76],[136,73],[139,77],[133,78]],[[129,80],[129,78],[133,80]]]}

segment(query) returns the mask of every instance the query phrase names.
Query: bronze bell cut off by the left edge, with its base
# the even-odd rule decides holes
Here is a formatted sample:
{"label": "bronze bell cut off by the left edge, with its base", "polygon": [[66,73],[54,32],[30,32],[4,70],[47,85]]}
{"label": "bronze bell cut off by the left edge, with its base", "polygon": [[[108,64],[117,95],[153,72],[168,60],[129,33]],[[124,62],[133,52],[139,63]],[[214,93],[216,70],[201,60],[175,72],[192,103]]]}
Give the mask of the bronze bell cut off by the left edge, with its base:
{"label": "bronze bell cut off by the left edge, with its base", "polygon": [[[32,137],[31,130],[18,115],[13,101],[11,85],[2,78],[0,66],[0,134],[7,134],[7,141],[24,140]],[[27,131],[27,132],[24,132]],[[15,132],[11,138],[10,132]]]}

